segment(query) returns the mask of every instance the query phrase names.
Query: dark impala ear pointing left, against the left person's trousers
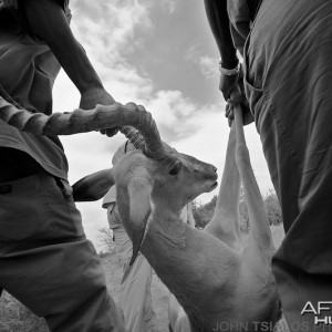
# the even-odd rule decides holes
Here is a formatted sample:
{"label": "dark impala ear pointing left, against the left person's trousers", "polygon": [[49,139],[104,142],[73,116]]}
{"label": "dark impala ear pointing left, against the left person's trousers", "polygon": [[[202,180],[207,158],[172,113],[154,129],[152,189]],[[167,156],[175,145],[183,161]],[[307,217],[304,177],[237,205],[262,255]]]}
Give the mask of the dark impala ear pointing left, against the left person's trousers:
{"label": "dark impala ear pointing left, against the left person's trousers", "polygon": [[103,198],[114,185],[112,168],[87,175],[73,185],[75,201],[95,201]]}

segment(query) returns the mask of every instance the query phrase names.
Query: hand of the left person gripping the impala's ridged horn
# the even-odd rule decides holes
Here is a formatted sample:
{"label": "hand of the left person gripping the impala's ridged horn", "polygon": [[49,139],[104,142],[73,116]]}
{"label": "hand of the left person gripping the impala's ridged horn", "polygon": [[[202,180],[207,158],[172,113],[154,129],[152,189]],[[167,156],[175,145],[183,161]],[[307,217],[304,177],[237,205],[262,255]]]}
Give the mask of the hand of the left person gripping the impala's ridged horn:
{"label": "hand of the left person gripping the impala's ridged horn", "polygon": [[[82,110],[92,110],[97,104],[100,105],[112,105],[115,101],[112,97],[112,95],[106,92],[103,87],[98,89],[91,89],[81,94],[81,102],[80,102],[80,108]],[[118,132],[117,127],[108,128],[108,129],[102,129],[101,134],[107,135],[108,137],[112,137],[116,135]]]}

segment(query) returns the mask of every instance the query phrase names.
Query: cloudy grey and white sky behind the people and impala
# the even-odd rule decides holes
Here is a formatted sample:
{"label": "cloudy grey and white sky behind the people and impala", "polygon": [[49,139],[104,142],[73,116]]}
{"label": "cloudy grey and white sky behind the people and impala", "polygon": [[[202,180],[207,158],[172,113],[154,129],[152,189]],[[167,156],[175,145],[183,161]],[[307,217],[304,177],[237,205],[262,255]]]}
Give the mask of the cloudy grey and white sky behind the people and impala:
{"label": "cloudy grey and white sky behind the people and impala", "polygon": [[[71,0],[71,9],[72,30],[113,97],[143,104],[165,142],[214,164],[220,179],[229,128],[218,91],[218,52],[204,1]],[[54,86],[54,111],[73,111],[79,102],[79,92],[61,71]],[[264,195],[272,185],[253,124],[246,127],[246,138]],[[124,141],[121,134],[62,137],[71,184],[110,168]],[[198,200],[210,200],[218,189]],[[98,229],[107,226],[102,201],[79,204],[79,208],[87,237],[101,250]]]}

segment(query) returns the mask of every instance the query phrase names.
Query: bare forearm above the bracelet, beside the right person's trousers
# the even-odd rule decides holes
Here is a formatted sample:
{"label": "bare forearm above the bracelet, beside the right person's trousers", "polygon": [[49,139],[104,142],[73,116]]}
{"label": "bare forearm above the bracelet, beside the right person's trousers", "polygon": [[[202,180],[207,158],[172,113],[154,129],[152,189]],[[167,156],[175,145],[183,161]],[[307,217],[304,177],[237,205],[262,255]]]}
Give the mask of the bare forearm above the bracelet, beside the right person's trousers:
{"label": "bare forearm above the bracelet, beside the right person's trousers", "polygon": [[220,52],[221,65],[226,69],[234,69],[238,64],[238,56],[230,34],[227,0],[205,0],[204,2],[207,19]]}

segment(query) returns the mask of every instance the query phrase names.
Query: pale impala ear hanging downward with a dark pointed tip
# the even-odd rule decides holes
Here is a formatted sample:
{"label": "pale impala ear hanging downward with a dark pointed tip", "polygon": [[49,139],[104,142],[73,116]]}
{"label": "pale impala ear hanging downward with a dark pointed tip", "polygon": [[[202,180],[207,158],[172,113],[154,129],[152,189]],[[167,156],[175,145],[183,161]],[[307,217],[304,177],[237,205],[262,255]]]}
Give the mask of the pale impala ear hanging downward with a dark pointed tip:
{"label": "pale impala ear hanging downward with a dark pointed tip", "polygon": [[132,266],[138,255],[145,234],[147,219],[151,215],[152,186],[145,178],[136,179],[128,185],[131,234],[133,240]]}

